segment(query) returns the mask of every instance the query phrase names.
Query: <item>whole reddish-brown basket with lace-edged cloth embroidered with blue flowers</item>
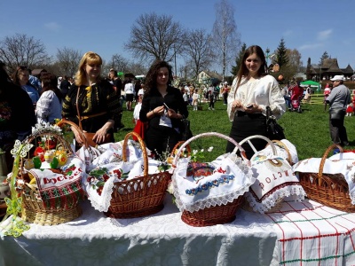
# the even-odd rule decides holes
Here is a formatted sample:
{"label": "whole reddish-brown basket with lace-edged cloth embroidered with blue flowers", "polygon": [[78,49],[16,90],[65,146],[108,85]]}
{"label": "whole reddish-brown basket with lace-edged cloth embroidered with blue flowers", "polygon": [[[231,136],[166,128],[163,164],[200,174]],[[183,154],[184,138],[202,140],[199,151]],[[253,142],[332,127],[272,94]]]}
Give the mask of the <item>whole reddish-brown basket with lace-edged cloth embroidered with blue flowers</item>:
{"label": "whole reddish-brown basket with lace-edged cloth embroidered with blue flowers", "polygon": [[[241,151],[225,153],[211,162],[193,162],[191,156],[180,158],[186,145],[200,137],[221,137]],[[173,162],[172,185],[183,222],[192,226],[231,223],[244,200],[244,193],[254,183],[244,149],[233,138],[208,132],[189,138],[177,151]]]}

